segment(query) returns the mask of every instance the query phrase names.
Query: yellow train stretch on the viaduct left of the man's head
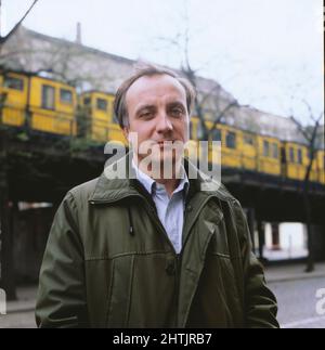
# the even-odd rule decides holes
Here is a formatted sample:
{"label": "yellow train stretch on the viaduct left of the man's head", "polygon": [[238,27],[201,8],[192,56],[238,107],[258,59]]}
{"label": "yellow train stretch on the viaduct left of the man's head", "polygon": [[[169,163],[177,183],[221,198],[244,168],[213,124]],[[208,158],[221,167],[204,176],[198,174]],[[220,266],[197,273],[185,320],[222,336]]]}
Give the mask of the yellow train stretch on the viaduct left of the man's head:
{"label": "yellow train stretch on the viaduct left of the man's head", "polygon": [[18,72],[0,73],[0,122],[52,134],[82,134],[93,141],[125,142],[113,120],[112,94],[91,91],[77,95],[65,82]]}

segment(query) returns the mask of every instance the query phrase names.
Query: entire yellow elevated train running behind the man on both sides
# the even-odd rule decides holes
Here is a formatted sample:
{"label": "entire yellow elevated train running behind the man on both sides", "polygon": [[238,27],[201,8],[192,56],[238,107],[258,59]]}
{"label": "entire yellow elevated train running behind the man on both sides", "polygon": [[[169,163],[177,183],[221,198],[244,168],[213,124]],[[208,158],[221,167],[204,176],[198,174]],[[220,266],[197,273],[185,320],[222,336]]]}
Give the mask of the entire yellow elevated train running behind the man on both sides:
{"label": "entire yellow elevated train running behind the man on both sides", "polygon": [[[58,80],[24,72],[0,72],[0,124],[28,126],[52,134],[82,137],[96,142],[126,143],[114,119],[114,95],[76,89]],[[208,129],[211,121],[206,121]],[[192,140],[197,139],[198,118],[192,118]],[[303,180],[308,147],[295,142],[218,124],[210,140],[221,141],[222,167],[245,169],[292,180]],[[212,159],[212,154],[209,158]],[[325,152],[316,151],[310,179],[325,184]]]}

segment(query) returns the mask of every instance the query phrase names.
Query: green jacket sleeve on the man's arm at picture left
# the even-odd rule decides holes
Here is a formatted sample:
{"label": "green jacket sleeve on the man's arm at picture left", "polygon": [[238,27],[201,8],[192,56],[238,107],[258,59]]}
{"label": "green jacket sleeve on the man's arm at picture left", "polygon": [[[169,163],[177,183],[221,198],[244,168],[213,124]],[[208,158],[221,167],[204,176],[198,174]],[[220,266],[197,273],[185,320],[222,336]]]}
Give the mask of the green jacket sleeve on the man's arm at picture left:
{"label": "green jacket sleeve on the man's arm at picture left", "polygon": [[36,304],[38,327],[87,327],[83,248],[72,193],[61,204],[49,235]]}

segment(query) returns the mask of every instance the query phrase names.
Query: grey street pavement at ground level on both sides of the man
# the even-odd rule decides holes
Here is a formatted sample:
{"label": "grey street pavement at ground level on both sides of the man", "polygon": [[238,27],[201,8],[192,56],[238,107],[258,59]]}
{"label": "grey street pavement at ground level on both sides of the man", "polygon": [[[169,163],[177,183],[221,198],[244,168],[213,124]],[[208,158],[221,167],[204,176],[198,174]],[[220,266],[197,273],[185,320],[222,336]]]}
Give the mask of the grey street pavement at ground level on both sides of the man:
{"label": "grey street pavement at ground level on both sides of the man", "polygon": [[[277,319],[282,328],[325,328],[325,312],[322,315],[316,310],[321,301],[316,293],[325,288],[325,263],[316,264],[313,273],[303,270],[303,264],[265,270],[268,284],[278,301]],[[17,289],[18,300],[8,302],[8,314],[0,314],[0,328],[36,328],[36,286]],[[325,308],[325,300],[322,306]]]}

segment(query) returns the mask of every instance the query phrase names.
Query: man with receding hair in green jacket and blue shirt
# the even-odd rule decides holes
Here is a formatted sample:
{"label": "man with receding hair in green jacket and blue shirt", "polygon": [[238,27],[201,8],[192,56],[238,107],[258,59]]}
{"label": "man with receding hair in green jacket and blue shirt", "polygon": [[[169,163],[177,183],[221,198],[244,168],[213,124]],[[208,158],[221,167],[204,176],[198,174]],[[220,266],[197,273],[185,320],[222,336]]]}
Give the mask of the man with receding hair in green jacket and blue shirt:
{"label": "man with receding hair in green jacket and blue shirt", "polygon": [[[126,179],[109,166],[64,198],[40,273],[39,326],[278,326],[239,203],[197,169],[188,177],[194,166],[170,147],[188,141],[193,100],[190,82],[152,66],[121,85],[115,113],[132,158],[116,166],[131,166]],[[168,163],[169,178],[153,171]]]}

